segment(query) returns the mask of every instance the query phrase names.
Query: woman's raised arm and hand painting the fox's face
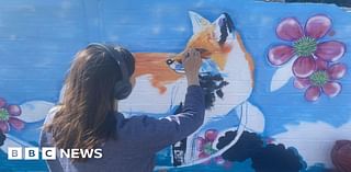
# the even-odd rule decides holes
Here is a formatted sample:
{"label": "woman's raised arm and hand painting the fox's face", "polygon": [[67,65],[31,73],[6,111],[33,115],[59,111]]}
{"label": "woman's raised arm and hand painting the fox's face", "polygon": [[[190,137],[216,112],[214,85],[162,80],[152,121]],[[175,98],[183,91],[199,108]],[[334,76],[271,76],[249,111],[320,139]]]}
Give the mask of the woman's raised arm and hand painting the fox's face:
{"label": "woman's raised arm and hand painting the fox's face", "polygon": [[194,133],[204,121],[204,93],[199,83],[199,69],[202,65],[200,53],[186,50],[183,55],[183,66],[188,80],[188,92],[183,111],[180,114],[165,118],[139,116],[132,119],[133,126],[139,127],[139,146],[151,151],[158,151],[171,144],[182,140]]}

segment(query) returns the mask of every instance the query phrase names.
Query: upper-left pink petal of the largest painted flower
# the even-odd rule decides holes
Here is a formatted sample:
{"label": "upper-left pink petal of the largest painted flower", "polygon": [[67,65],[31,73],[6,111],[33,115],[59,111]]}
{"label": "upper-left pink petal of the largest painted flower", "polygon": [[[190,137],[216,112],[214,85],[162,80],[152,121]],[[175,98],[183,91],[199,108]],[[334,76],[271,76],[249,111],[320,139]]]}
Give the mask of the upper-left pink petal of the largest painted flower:
{"label": "upper-left pink petal of the largest painted flower", "polygon": [[295,18],[285,18],[276,26],[276,35],[284,41],[297,41],[304,36],[304,31]]}

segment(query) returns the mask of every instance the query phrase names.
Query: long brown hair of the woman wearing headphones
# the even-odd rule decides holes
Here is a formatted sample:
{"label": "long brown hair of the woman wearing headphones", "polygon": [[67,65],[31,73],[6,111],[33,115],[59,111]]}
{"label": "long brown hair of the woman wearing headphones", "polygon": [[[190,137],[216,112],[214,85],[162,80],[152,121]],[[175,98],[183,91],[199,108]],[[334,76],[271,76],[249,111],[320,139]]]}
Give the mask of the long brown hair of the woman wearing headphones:
{"label": "long brown hair of the woman wearing headphones", "polygon": [[[122,74],[109,56],[99,46],[88,46],[76,55],[65,81],[61,106],[52,123],[44,126],[53,134],[55,147],[94,149],[109,138],[116,139],[114,85]],[[132,76],[133,56],[126,62]],[[71,159],[76,160],[84,159]]]}

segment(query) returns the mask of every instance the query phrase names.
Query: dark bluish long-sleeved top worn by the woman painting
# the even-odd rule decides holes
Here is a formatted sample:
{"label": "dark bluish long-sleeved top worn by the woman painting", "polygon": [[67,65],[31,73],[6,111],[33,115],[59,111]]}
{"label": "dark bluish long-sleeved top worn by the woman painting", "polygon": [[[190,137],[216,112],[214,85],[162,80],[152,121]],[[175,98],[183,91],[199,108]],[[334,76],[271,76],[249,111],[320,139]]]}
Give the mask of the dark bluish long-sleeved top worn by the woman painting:
{"label": "dark bluish long-sleeved top worn by the woman painting", "polygon": [[[50,123],[57,110],[50,111],[45,123]],[[205,105],[202,88],[188,88],[182,113],[165,118],[134,116],[125,118],[116,113],[117,139],[107,140],[101,148],[103,158],[71,163],[67,158],[47,160],[53,172],[150,172],[157,151],[184,139],[204,121]],[[42,131],[41,147],[53,147],[50,133]]]}

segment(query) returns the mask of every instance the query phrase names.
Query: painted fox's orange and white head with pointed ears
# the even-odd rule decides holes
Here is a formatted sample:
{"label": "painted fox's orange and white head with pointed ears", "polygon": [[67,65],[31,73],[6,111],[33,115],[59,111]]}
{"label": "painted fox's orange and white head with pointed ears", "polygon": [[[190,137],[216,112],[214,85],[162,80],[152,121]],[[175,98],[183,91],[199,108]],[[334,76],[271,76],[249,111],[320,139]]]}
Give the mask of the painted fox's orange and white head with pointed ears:
{"label": "painted fox's orange and white head with pointed ears", "polygon": [[[194,35],[189,39],[184,49],[196,48],[201,50],[203,59],[214,60],[219,69],[224,69],[227,54],[231,49],[230,42],[234,39],[234,24],[227,13],[223,13],[213,23],[190,12]],[[167,59],[167,65],[177,72],[182,72],[182,53]]]}

